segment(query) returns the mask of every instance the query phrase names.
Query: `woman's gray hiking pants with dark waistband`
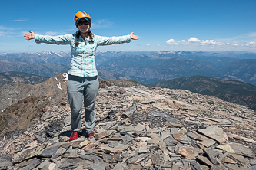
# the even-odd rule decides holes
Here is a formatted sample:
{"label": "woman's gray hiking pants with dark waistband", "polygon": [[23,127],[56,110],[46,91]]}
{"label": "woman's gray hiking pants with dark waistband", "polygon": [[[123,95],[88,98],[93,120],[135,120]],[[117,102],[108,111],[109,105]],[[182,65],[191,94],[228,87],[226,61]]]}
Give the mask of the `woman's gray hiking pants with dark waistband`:
{"label": "woman's gray hiking pants with dark waistband", "polygon": [[68,75],[68,102],[71,108],[71,129],[81,132],[81,108],[84,98],[85,132],[94,132],[95,100],[98,93],[98,77],[77,77]]}

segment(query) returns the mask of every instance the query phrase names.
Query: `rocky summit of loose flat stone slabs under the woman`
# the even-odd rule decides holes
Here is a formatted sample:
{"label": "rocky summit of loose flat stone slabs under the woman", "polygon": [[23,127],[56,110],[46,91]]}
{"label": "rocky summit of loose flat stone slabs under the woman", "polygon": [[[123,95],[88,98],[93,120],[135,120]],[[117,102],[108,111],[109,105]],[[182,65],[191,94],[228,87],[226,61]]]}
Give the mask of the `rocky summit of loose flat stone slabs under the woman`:
{"label": "rocky summit of loose flat stone slabs under the woman", "polygon": [[254,110],[188,90],[124,84],[101,81],[94,137],[68,140],[66,95],[31,126],[6,132],[0,169],[256,169]]}

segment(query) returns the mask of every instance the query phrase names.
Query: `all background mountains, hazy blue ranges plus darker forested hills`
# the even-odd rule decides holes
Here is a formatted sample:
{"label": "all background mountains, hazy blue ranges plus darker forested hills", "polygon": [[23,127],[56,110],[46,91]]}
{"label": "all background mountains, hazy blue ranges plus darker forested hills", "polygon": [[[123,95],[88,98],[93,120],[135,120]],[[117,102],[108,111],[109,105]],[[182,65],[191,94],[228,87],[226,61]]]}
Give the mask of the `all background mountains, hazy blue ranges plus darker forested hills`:
{"label": "all background mountains, hazy blue ranges plus darker forested hills", "polygon": [[[254,53],[107,51],[98,52],[95,60],[99,78],[103,80],[132,79],[138,83],[151,85],[159,80],[170,80],[172,84],[177,86],[170,86],[169,83],[166,83],[168,81],[155,83],[155,86],[165,87],[168,84],[166,86],[168,88],[188,89],[197,93],[218,96],[221,99],[241,103],[245,106],[253,105],[254,107],[254,87],[250,87],[250,84],[248,84],[256,85],[256,54]],[[32,84],[40,83],[45,78],[68,72],[70,61],[71,54],[65,52],[0,53],[0,73],[2,72],[0,74],[0,87],[5,83],[10,84],[18,82],[18,80]],[[28,76],[28,74],[33,75]],[[25,77],[29,78],[26,79]],[[177,79],[181,77],[186,78]],[[224,80],[237,81],[228,83]],[[217,87],[214,84],[218,84]],[[234,87],[234,84],[239,85]],[[248,89],[243,90],[244,87]]]}

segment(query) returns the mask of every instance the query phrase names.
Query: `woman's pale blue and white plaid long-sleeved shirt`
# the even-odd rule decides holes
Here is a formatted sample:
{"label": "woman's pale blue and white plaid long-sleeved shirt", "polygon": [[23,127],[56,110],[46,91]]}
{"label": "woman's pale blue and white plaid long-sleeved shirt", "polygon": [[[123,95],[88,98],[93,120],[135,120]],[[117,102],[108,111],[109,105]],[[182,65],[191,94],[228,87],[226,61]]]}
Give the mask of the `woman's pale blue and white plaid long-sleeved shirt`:
{"label": "woman's pale blue and white plaid long-sleeved shirt", "polygon": [[102,37],[94,35],[93,43],[88,39],[78,38],[79,45],[75,45],[77,38],[75,34],[65,34],[58,36],[35,35],[36,43],[47,44],[69,44],[71,47],[71,64],[68,74],[79,77],[95,77],[98,75],[95,64],[95,54],[98,46],[129,43],[130,35],[119,37]]}

